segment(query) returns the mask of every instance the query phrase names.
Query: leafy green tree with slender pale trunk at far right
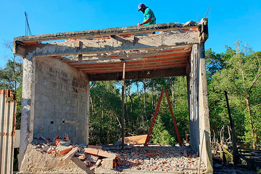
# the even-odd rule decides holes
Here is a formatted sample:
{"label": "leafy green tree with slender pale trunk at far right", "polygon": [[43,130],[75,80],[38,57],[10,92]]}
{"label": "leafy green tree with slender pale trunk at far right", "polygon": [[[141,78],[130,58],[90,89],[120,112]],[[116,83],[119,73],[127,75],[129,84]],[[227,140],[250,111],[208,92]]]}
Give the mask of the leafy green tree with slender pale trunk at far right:
{"label": "leafy green tree with slender pale trunk at far right", "polygon": [[[257,107],[261,105],[260,53],[254,53],[247,44],[241,46],[241,41],[235,42],[234,45],[235,50],[227,47],[226,52],[230,56],[226,57],[225,68],[217,70],[212,76],[212,85],[217,87],[219,91],[227,90],[230,99],[232,99],[230,101],[232,106],[237,108],[239,112],[241,109],[244,111],[239,116],[245,116],[246,124],[241,125],[245,128],[245,141],[251,142],[252,147],[256,149],[256,126],[259,120]],[[235,117],[235,119],[242,120],[239,117]]]}

